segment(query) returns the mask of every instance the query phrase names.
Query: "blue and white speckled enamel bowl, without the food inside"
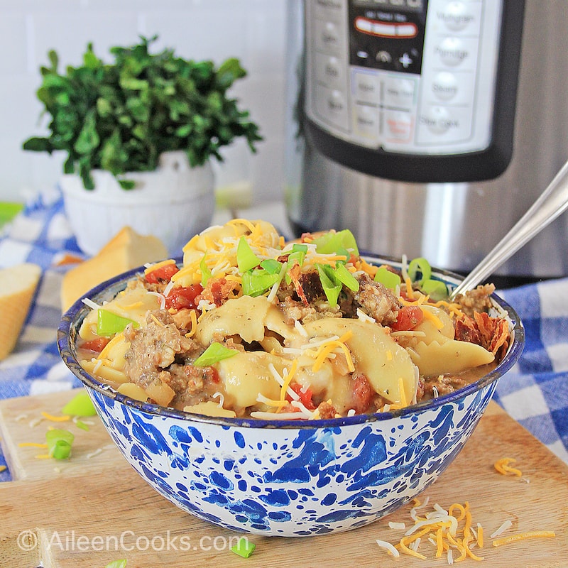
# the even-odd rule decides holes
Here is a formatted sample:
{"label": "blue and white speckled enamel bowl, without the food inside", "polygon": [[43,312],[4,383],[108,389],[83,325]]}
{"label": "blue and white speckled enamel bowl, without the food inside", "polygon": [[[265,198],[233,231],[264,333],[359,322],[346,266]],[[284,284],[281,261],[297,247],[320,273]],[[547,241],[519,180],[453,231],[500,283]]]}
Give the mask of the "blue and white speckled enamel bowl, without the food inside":
{"label": "blue and white speckled enamel bowl, without the food inside", "polygon": [[[136,272],[99,285],[88,297],[110,299]],[[437,275],[459,281],[443,271]],[[80,301],[62,317],[58,345],[116,446],[158,493],[225,528],[309,536],[360,527],[391,513],[452,463],[498,378],[523,351],[518,315],[500,298],[493,300],[513,323],[513,342],[491,373],[413,408],[332,420],[204,417],[121,395],[77,361],[75,339],[89,310]]]}

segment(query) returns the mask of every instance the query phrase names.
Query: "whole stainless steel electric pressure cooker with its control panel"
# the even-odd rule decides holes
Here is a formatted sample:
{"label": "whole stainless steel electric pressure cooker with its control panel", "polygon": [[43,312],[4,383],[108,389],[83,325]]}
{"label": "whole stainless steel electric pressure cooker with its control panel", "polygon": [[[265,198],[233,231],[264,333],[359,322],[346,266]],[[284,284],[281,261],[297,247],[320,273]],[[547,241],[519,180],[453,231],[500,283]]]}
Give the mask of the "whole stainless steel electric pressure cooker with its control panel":
{"label": "whole stainless steel electric pressure cooker with its control panel", "polygon": [[[567,28],[565,0],[289,0],[295,233],[473,268],[568,159]],[[567,219],[494,276],[567,275]]]}

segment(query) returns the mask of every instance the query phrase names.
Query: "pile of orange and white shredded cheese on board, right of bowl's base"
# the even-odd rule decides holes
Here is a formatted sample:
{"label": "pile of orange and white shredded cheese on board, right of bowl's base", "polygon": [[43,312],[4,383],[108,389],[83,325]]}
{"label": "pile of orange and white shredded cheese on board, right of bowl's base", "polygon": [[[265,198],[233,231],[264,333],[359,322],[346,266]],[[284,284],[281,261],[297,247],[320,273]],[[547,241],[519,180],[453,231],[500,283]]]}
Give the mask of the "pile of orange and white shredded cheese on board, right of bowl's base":
{"label": "pile of orange and white shredded cheese on board, right of bowl's base", "polygon": [[[415,498],[410,509],[410,518],[414,524],[406,528],[406,523],[389,522],[388,527],[391,530],[402,530],[403,534],[398,542],[377,540],[377,545],[397,558],[401,555],[422,560],[445,557],[448,564],[461,562],[466,558],[477,562],[484,560],[481,553],[484,548],[484,528],[481,523],[476,523],[474,527],[469,502],[452,503],[447,510],[435,503],[431,510],[425,513],[423,511],[427,503],[427,499],[421,503]],[[512,525],[510,520],[506,520],[493,532],[491,538],[501,535]],[[552,537],[555,537],[553,531],[535,530],[494,538],[491,544],[493,547],[501,547],[522,540]]]}

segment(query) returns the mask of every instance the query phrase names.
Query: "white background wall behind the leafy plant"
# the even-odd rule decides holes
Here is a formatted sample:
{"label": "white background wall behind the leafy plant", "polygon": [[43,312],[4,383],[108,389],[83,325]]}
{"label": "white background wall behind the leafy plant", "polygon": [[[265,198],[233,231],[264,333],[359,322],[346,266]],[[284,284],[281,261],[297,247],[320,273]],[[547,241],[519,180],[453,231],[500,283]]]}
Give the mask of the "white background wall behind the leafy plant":
{"label": "white background wall behind the leafy plant", "polygon": [[219,64],[237,57],[248,75],[231,94],[251,111],[264,141],[252,155],[237,141],[217,168],[219,187],[252,188],[253,202],[280,197],[283,185],[286,0],[0,0],[0,200],[22,201],[53,187],[62,157],[24,152],[46,133],[35,98],[40,65],[55,49],[63,65],[80,65],[89,41],[109,60],[112,45],[158,34],[153,50]]}

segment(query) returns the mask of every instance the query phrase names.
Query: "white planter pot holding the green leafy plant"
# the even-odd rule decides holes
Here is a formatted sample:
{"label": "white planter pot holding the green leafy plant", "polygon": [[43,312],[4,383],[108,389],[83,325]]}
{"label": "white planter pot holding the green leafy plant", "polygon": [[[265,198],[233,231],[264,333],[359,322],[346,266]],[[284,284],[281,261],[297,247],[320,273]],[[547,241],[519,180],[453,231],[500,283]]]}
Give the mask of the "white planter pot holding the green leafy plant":
{"label": "white planter pot holding the green leafy plant", "polygon": [[166,152],[153,172],[125,176],[136,182],[123,190],[111,173],[92,172],[95,188],[85,190],[77,175],[63,175],[60,187],[65,213],[77,244],[96,254],[122,229],[160,238],[171,256],[180,256],[191,237],[211,224],[215,207],[210,163],[190,168],[185,153]]}

